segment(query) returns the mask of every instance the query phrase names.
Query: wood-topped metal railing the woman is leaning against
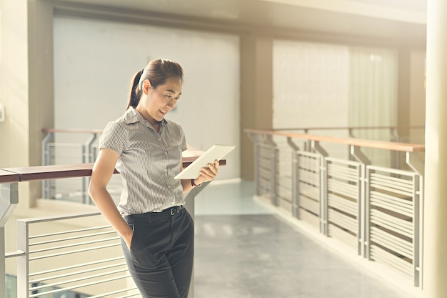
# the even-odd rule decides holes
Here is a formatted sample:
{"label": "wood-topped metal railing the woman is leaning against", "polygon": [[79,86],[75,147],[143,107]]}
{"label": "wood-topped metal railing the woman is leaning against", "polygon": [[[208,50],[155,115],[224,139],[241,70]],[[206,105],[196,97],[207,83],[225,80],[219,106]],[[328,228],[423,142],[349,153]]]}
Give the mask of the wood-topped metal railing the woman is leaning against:
{"label": "wood-topped metal railing the woman is leaning against", "polygon": [[[184,168],[196,158],[184,157]],[[119,236],[99,212],[18,219],[17,249],[6,252],[5,224],[19,204],[19,183],[89,177],[92,167],[89,163],[0,169],[0,297],[6,295],[6,259],[16,259],[20,298],[140,296],[129,278]],[[194,197],[206,184],[186,195],[186,209],[193,218]],[[56,208],[64,203],[51,202]],[[76,204],[65,204],[76,210]],[[189,297],[194,297],[194,280]]]}

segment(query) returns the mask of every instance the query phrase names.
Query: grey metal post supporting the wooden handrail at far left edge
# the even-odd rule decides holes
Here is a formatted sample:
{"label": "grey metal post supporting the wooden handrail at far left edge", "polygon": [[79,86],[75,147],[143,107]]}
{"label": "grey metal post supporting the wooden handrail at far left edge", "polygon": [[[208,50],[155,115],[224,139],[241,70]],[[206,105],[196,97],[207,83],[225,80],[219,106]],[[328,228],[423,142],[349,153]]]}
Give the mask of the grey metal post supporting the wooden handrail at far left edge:
{"label": "grey metal post supporting the wooden handrail at far left edge", "polygon": [[[5,224],[11,216],[14,208],[19,204],[19,184],[0,184],[0,289],[2,296],[6,297],[6,239]],[[1,293],[0,293],[1,294]]]}

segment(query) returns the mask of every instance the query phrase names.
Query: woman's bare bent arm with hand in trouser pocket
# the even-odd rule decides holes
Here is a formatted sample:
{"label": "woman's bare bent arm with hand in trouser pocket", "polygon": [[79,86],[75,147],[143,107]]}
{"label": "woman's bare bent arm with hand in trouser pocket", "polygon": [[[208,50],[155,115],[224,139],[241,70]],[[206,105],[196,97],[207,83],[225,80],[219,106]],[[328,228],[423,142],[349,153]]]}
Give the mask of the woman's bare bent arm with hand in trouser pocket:
{"label": "woman's bare bent arm with hand in trouser pocket", "polygon": [[101,148],[98,157],[91,172],[91,181],[89,186],[89,195],[98,207],[101,214],[116,229],[116,232],[124,239],[127,247],[131,247],[134,231],[126,224],[119,214],[115,202],[107,191],[107,184],[114,174],[116,162],[119,154],[111,149]]}

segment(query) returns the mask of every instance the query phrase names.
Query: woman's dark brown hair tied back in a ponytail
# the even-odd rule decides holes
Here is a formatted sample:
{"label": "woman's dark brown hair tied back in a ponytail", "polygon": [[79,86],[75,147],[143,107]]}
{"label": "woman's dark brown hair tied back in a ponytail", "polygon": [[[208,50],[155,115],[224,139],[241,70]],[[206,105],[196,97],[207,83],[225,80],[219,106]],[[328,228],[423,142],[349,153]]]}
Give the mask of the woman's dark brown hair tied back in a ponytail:
{"label": "woman's dark brown hair tied back in a ponytail", "polygon": [[167,59],[156,59],[149,62],[145,69],[141,69],[134,75],[131,80],[129,90],[129,101],[127,108],[136,107],[141,99],[141,90],[143,81],[149,79],[151,86],[155,89],[159,85],[166,83],[166,79],[170,77],[179,78],[183,81],[183,69],[180,64]]}

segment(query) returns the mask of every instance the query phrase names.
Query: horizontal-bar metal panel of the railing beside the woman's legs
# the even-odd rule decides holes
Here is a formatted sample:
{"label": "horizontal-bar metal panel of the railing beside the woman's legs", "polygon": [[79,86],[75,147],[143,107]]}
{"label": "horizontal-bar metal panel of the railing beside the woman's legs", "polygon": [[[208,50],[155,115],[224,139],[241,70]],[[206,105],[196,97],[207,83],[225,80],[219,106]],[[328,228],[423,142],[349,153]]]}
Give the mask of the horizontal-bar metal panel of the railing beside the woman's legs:
{"label": "horizontal-bar metal panel of the railing beside the woman's legs", "polygon": [[19,250],[8,256],[17,257],[17,297],[139,296],[119,236],[101,219],[96,212],[19,219]]}

